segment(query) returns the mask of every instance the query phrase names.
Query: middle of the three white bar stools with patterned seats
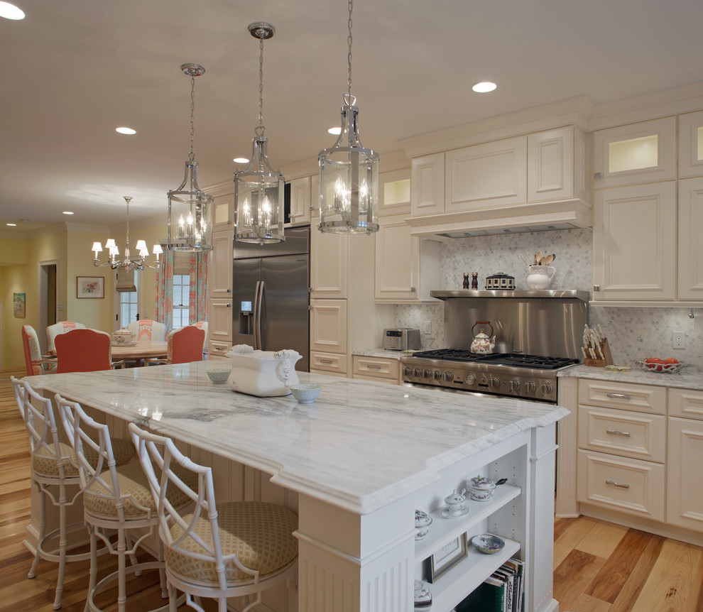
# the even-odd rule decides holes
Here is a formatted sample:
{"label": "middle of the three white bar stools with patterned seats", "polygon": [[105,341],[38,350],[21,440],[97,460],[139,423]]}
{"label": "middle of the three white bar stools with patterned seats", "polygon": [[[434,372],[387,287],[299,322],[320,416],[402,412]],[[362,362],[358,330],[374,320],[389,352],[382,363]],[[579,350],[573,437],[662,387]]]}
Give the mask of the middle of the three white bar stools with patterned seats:
{"label": "middle of the three white bar stools with patterned seats", "polygon": [[[100,612],[94,603],[97,594],[114,581],[118,583],[117,608],[126,609],[126,577],[128,573],[141,574],[144,569],[159,569],[161,595],[168,597],[163,572],[163,545],[156,535],[158,515],[149,490],[146,476],[138,462],[117,465],[107,425],[89,417],[80,404],[55,396],[61,421],[71,441],[78,464],[80,488],[83,492],[85,523],[90,534],[90,581],[85,611]],[[91,456],[97,457],[92,461]],[[180,472],[186,482],[195,483],[195,477]],[[190,500],[178,489],[168,492],[168,500],[182,506]],[[138,530],[136,540],[131,532]],[[110,540],[116,532],[117,540]],[[147,537],[158,541],[158,559],[153,562],[136,562],[136,552]],[[97,540],[100,538],[111,554],[117,556],[117,570],[97,581]],[[126,567],[126,557],[131,566]],[[165,610],[164,604],[158,610]]]}

